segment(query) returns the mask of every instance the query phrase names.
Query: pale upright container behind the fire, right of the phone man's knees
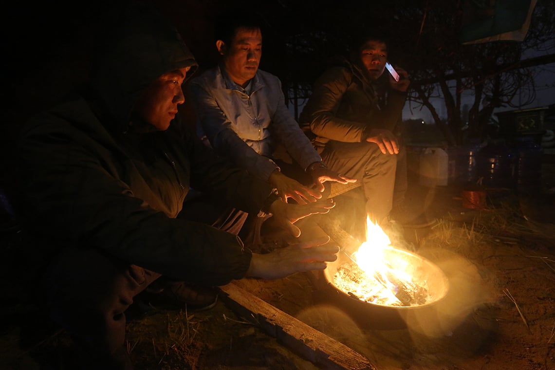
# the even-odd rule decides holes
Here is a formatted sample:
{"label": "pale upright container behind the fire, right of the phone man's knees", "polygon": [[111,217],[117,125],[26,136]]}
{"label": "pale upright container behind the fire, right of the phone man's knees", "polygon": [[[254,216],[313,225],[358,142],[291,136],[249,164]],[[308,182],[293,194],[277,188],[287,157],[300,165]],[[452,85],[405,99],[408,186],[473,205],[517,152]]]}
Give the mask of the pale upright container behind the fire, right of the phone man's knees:
{"label": "pale upright container behind the fire, right of the phone man's knees", "polygon": [[423,186],[446,186],[449,155],[442,148],[425,148],[420,154],[420,178]]}

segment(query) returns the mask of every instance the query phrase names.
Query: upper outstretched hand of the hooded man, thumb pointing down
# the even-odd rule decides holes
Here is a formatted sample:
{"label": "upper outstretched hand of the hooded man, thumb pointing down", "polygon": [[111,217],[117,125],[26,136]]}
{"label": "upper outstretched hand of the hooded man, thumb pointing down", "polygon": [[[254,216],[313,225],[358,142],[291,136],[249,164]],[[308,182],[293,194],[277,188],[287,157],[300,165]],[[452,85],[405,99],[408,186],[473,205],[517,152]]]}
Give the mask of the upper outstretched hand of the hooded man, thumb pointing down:
{"label": "upper outstretched hand of the hooded man, thumb pointing down", "polygon": [[270,212],[273,214],[272,217],[278,227],[289,231],[294,237],[299,237],[301,230],[293,225],[296,221],[314,214],[325,214],[333,207],[335,207],[335,202],[332,199],[322,199],[307,204],[286,203],[276,200],[270,205]]}

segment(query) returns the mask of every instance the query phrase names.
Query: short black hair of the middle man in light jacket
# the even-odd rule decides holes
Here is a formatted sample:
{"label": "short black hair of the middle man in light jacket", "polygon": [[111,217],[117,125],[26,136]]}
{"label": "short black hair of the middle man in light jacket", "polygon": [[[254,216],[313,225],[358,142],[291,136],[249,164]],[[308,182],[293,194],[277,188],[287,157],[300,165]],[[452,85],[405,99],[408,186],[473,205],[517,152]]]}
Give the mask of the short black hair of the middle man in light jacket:
{"label": "short black hair of the middle man in light jacket", "polygon": [[260,29],[263,31],[262,17],[259,13],[244,8],[225,9],[216,20],[215,37],[230,44],[238,29]]}

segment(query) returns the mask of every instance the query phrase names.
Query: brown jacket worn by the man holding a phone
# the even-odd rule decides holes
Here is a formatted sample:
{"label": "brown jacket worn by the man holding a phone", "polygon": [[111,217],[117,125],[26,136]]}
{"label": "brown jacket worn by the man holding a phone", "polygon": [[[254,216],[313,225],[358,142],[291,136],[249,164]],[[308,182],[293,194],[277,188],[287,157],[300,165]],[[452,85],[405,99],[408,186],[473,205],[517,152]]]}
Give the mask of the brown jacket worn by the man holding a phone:
{"label": "brown jacket worn by the man holding a phone", "polygon": [[380,105],[375,83],[356,63],[342,59],[316,79],[299,123],[320,151],[330,140],[360,143],[367,129],[392,131],[405,99],[406,93],[391,90]]}

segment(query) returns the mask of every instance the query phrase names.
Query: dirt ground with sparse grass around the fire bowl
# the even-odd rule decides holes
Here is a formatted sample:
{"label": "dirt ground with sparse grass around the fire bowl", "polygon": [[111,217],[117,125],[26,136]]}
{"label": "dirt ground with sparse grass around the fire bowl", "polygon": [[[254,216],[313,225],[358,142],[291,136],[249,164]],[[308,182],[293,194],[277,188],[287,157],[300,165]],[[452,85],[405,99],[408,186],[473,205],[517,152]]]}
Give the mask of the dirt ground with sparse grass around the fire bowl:
{"label": "dirt ground with sparse grass around the fire bowl", "polygon": [[[413,210],[435,222],[424,229],[406,228],[404,236],[415,254],[442,269],[449,291],[432,314],[404,316],[405,327],[388,328],[372,310],[367,315],[381,325],[364,323],[322,289],[320,273],[236,283],[360,353],[378,370],[553,370],[555,165],[544,167],[542,196],[488,189],[483,210],[463,207],[456,187],[411,182]],[[344,208],[348,205],[345,201]],[[0,368],[74,368],[79,359],[67,334],[47,325],[22,288],[26,273],[15,267],[24,254],[17,249],[17,225],[6,219],[2,227]],[[306,222],[305,236],[312,227]],[[237,315],[224,299],[205,312],[159,310],[136,302],[128,318],[128,350],[137,369],[320,368]]]}

